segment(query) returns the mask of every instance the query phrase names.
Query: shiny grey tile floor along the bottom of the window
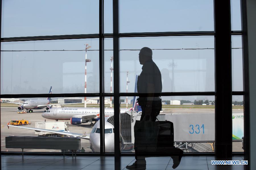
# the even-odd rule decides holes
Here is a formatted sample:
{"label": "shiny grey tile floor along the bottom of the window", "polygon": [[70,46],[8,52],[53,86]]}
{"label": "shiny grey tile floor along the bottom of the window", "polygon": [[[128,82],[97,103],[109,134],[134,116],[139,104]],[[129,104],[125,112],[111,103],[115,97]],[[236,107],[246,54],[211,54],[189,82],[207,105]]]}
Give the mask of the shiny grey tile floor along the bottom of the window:
{"label": "shiny grey tile floor along the bottom of the window", "polygon": [[[183,156],[176,169],[202,170],[243,170],[243,165],[211,165],[214,156]],[[242,156],[234,156],[233,160],[243,160]],[[121,157],[121,169],[135,162],[133,156]],[[170,157],[146,158],[146,169],[173,169]],[[1,155],[1,169],[26,170],[78,170],[78,169],[114,169],[113,156],[36,156],[36,155]]]}

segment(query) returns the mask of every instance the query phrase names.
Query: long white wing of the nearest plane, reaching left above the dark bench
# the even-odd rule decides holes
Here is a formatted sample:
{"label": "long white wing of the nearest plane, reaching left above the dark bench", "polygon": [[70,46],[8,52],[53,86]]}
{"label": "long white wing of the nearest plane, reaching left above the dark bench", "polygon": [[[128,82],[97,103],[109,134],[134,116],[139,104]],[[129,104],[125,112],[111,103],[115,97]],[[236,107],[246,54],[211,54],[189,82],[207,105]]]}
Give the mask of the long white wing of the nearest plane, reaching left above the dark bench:
{"label": "long white wing of the nearest plane, reaching left above the dark bench", "polygon": [[48,130],[48,129],[39,129],[39,128],[29,128],[29,127],[24,127],[24,126],[13,126],[13,125],[7,125],[8,127],[14,127],[14,128],[23,128],[23,129],[30,129],[34,130],[36,132],[49,132],[49,133],[56,133],[59,135],[67,135],[67,136],[73,136],[73,137],[80,137],[83,139],[90,139],[90,136],[84,135],[84,134],[79,134],[79,133],[72,133],[72,132],[67,132],[67,131],[56,131],[56,130]]}

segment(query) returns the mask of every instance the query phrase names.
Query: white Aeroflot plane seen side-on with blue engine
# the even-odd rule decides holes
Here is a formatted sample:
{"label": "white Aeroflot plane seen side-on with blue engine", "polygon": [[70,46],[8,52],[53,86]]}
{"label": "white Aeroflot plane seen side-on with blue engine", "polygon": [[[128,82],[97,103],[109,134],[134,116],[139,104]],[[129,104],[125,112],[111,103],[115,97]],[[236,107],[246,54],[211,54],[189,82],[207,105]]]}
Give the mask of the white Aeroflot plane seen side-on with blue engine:
{"label": "white Aeroflot plane seen side-on with blue engine", "polygon": [[[121,110],[121,113],[128,111],[128,109]],[[106,116],[113,116],[113,108],[105,108],[104,114]],[[61,108],[51,108],[46,112],[42,113],[42,117],[46,119],[53,120],[70,120],[72,125],[79,125],[82,123],[91,122],[90,126],[93,127],[94,124],[100,119],[100,108],[83,108],[83,107],[61,107]],[[92,121],[95,121],[93,124]]]}

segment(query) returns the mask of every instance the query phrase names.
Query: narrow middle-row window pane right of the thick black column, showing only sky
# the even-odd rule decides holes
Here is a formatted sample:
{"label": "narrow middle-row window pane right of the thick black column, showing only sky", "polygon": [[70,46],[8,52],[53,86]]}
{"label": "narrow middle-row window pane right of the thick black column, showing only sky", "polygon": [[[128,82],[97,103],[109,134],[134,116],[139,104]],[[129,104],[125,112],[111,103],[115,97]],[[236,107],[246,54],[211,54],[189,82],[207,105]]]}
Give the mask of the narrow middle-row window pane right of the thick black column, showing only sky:
{"label": "narrow middle-row window pane right of the thick black column, showing only sky", "polygon": [[232,91],[243,91],[243,49],[241,35],[232,35]]}

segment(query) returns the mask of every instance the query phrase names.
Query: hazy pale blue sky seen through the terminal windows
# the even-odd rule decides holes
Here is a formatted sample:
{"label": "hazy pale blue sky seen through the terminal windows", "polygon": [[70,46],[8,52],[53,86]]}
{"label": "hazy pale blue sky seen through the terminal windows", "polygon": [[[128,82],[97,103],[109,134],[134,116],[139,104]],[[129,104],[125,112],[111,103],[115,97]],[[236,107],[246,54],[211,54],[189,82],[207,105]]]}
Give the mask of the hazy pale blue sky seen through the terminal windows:
{"label": "hazy pale blue sky seen through the terminal windows", "polygon": [[[29,4],[29,5],[28,5]],[[112,33],[112,1],[104,1],[105,33]],[[164,4],[164,5],[162,5]],[[98,1],[3,0],[1,37],[98,33]],[[213,1],[125,1],[119,5],[120,32],[214,31]],[[232,30],[241,30],[239,0],[232,1]],[[87,58],[87,92],[99,92],[99,40],[3,42],[1,50],[83,50]],[[139,51],[123,49],[214,48],[213,36],[120,38],[120,92],[134,91],[141,73]],[[232,36],[241,48],[241,36]],[[113,49],[112,38],[105,49]],[[105,51],[105,92],[110,92],[110,57]],[[223,56],[225,57],[225,56]],[[214,91],[214,50],[153,50],[153,60],[169,78],[163,92]],[[85,51],[1,52],[1,94],[83,93]],[[174,68],[172,68],[174,65]],[[232,50],[232,89],[243,91],[242,49]],[[163,73],[162,73],[163,74]],[[163,76],[162,76],[163,77]],[[173,83],[172,83],[173,81]],[[166,85],[166,84],[169,84]],[[172,86],[173,85],[173,86]],[[169,87],[169,88],[168,88]]]}

